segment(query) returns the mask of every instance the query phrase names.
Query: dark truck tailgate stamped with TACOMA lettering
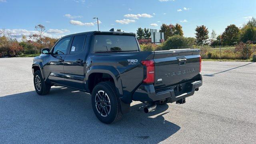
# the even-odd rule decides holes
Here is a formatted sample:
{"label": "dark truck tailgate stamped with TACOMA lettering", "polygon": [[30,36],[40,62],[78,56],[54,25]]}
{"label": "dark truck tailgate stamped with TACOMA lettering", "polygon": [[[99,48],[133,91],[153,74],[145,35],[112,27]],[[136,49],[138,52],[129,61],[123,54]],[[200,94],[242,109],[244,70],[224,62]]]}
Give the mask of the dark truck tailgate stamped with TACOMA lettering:
{"label": "dark truck tailgate stamped with TACOMA lettering", "polygon": [[200,49],[154,52],[155,89],[191,80],[200,73]]}

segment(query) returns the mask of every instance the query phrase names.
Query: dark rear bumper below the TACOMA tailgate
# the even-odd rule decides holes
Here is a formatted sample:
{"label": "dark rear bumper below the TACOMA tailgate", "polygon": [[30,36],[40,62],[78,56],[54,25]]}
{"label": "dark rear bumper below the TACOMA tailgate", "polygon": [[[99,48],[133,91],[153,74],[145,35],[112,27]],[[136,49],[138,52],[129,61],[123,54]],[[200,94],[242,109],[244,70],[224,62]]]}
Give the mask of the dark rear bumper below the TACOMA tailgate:
{"label": "dark rear bumper below the TACOMA tailgate", "polygon": [[[177,87],[181,86],[183,90]],[[170,86],[164,90],[155,91],[153,84],[142,84],[133,94],[133,100],[141,102],[154,102],[169,98],[169,102],[176,102],[182,98],[192,96],[196,88],[202,86],[202,76],[199,75],[199,80],[192,80],[182,84]],[[177,90],[178,89],[178,90]]]}

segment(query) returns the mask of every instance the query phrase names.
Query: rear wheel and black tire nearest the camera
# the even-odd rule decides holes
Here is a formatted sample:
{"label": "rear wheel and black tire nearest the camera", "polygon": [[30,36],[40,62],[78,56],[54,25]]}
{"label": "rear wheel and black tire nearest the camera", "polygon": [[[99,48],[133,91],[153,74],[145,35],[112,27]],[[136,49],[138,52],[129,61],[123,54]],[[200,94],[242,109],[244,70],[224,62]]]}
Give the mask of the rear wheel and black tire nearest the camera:
{"label": "rear wheel and black tire nearest the camera", "polygon": [[105,124],[111,124],[122,118],[121,106],[112,82],[100,82],[94,87],[92,90],[92,109],[96,117]]}

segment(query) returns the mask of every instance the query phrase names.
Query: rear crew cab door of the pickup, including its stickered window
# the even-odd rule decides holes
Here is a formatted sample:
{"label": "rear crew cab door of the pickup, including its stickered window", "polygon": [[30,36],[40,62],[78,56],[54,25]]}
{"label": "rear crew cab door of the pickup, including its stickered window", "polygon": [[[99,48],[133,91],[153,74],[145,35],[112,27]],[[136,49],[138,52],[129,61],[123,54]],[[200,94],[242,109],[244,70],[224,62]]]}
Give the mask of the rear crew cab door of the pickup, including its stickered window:
{"label": "rear crew cab door of the pickup, including its stickered window", "polygon": [[80,90],[85,90],[85,40],[86,35],[74,36],[68,54],[64,59],[65,85]]}

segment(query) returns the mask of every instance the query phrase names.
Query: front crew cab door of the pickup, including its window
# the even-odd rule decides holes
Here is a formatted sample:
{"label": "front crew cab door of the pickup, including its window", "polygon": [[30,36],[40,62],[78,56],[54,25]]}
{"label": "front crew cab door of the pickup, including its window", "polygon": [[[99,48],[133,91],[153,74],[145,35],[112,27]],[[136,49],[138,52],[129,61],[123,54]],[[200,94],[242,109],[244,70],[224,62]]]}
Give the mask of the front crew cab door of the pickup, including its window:
{"label": "front crew cab door of the pickup, including its window", "polygon": [[45,74],[51,82],[57,84],[64,83],[64,58],[67,53],[67,48],[70,45],[70,37],[62,38],[54,48],[51,50],[51,54],[44,66]]}

